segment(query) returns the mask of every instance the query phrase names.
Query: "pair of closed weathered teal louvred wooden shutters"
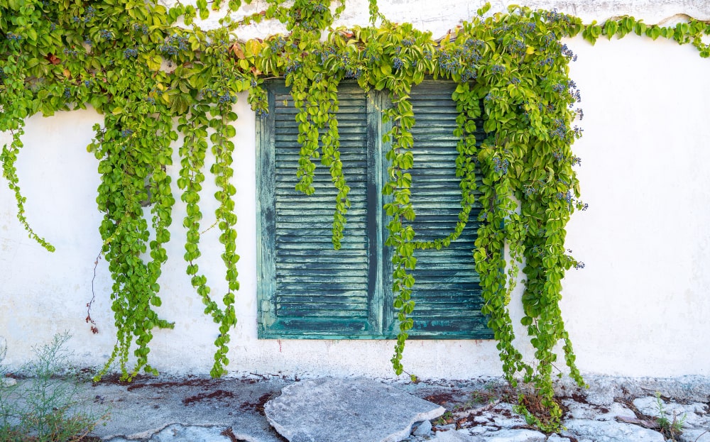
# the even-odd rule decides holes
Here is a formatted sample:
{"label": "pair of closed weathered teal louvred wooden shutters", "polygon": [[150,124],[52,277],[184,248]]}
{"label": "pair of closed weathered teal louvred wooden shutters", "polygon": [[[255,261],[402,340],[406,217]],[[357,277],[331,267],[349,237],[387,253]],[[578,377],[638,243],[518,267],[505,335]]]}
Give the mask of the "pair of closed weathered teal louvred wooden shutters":
{"label": "pair of closed weathered teal louvred wooden shutters", "polygon": [[[379,109],[381,92],[354,83],[339,87],[338,128],[351,208],[341,250],[333,250],[332,208],[337,191],[317,163],[314,195],[296,192],[296,109],[283,82],[269,85],[269,114],[257,123],[258,336],[260,338],[393,338],[391,250],[382,194],[387,164]],[[411,171],[418,240],[446,236],[460,210],[455,176],[457,139],[453,85],[425,82],[413,89],[417,124]],[[481,138],[483,138],[481,136]],[[317,162],[317,160],[315,160]],[[415,338],[491,338],[481,315],[474,270],[477,211],[459,241],[443,250],[417,250]]]}

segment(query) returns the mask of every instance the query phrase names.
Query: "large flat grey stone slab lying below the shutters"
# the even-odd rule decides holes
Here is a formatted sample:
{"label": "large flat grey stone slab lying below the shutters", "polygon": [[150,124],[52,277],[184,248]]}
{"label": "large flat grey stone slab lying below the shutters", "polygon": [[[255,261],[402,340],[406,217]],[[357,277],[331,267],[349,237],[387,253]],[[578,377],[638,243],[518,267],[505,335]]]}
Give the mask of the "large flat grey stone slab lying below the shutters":
{"label": "large flat grey stone slab lying below the shutters", "polygon": [[322,378],[288,385],[264,412],[290,442],[398,442],[444,408],[374,380]]}

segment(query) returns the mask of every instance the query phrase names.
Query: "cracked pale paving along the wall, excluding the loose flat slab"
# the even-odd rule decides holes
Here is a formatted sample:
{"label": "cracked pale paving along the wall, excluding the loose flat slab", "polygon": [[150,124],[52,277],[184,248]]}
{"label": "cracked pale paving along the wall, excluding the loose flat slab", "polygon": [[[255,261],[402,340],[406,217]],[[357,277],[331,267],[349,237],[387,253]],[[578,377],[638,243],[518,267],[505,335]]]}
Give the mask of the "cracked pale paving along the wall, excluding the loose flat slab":
{"label": "cracked pale paving along the wall, excluding the loose flat slab", "polygon": [[[432,421],[433,429],[426,425],[428,421],[415,425],[406,421],[403,430],[413,429],[412,435],[403,439],[409,442],[660,442],[663,437],[652,426],[659,411],[659,399],[666,416],[683,419],[684,432],[678,441],[710,442],[709,377],[659,380],[589,376],[586,380],[591,385],[589,389],[578,389],[565,381],[557,383],[557,394],[565,409],[563,425],[567,430],[551,435],[533,429],[513,413],[513,406],[506,401],[514,400],[515,394],[506,389],[500,378],[442,380],[416,385],[388,381],[381,386],[383,391],[395,389],[397,394],[410,393],[448,410],[440,419]],[[348,381],[354,379],[345,380],[344,385]],[[18,381],[23,382],[29,381]],[[300,383],[308,385],[309,382],[315,381]],[[94,412],[102,413],[106,409],[110,412],[105,425],[98,426],[87,442],[284,442],[287,439],[267,421],[264,407],[271,399],[280,397],[285,387],[297,383],[298,380],[280,375],[221,380],[138,377],[130,384],[109,376],[98,384],[87,382],[82,385],[85,400],[81,404]],[[288,391],[286,389],[287,395]],[[659,399],[656,392],[660,394]],[[274,400],[274,404],[278,402]],[[366,397],[362,402],[367,406]],[[379,412],[378,403],[369,402],[372,402],[374,416]],[[344,442],[364,440],[351,435],[369,425],[366,421],[365,427],[362,426],[347,413],[335,413],[324,420],[327,425],[321,431],[339,427],[347,435],[342,436]],[[403,434],[398,433],[392,440],[399,440]],[[306,440],[321,442],[325,439],[316,435]],[[291,441],[297,442],[295,438]]]}

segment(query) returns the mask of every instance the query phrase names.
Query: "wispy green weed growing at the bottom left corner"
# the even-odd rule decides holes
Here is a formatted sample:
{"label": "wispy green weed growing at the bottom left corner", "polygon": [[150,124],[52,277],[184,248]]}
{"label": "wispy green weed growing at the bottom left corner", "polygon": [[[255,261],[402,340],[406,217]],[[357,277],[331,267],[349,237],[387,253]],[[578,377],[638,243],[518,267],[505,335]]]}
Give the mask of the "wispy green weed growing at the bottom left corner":
{"label": "wispy green weed growing at the bottom left corner", "polygon": [[[89,409],[76,376],[67,371],[70,353],[64,345],[70,337],[58,334],[33,348],[35,358],[22,370],[26,380],[0,387],[0,441],[80,442],[107,419],[106,410]],[[0,348],[0,377],[6,375],[5,350]]]}

